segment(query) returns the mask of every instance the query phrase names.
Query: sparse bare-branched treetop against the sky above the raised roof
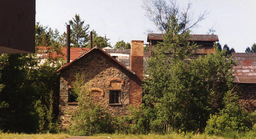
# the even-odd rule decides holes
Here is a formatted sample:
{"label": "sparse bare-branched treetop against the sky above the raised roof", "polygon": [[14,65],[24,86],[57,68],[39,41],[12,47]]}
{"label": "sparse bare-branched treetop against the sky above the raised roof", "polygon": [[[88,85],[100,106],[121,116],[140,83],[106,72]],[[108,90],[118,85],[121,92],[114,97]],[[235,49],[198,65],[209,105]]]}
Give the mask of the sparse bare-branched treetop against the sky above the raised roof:
{"label": "sparse bare-branched treetop against the sky above the raised roof", "polygon": [[[154,22],[156,27],[162,33],[168,32],[172,27],[172,23],[177,23],[180,26],[179,33],[185,33],[188,30],[198,27],[198,23],[204,20],[207,11],[200,14],[196,20],[193,18],[193,13],[190,12],[191,3],[182,10],[175,0],[144,0],[144,9],[148,18]],[[172,18],[175,17],[175,20]]]}

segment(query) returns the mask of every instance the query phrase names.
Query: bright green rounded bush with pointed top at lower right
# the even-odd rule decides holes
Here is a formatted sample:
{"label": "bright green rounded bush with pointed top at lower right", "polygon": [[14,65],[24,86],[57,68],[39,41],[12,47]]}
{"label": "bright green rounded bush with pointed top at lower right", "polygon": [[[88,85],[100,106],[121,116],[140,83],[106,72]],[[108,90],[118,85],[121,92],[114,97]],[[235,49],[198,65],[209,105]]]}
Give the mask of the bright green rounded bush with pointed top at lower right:
{"label": "bright green rounded bush with pointed top at lower right", "polygon": [[225,132],[248,131],[252,128],[252,119],[248,112],[242,110],[238,103],[237,93],[226,92],[224,98],[224,109],[219,114],[211,115],[207,121],[205,132],[210,135],[222,135]]}

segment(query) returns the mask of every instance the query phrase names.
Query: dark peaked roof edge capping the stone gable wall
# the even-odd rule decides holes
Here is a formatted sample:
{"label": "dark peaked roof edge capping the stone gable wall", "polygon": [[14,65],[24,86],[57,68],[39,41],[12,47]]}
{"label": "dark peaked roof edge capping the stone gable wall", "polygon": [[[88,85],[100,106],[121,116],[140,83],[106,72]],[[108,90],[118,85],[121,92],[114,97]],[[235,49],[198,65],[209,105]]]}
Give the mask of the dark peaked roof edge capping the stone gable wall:
{"label": "dark peaked roof edge capping the stone gable wall", "polygon": [[135,74],[132,70],[126,68],[122,63],[120,63],[119,61],[117,61],[116,59],[114,59],[112,56],[110,56],[107,52],[103,51],[101,48],[98,48],[97,46],[94,47],[93,49],[87,51],[86,53],[84,53],[83,55],[81,55],[80,57],[78,57],[77,59],[75,59],[74,61],[67,63],[66,65],[64,65],[63,67],[61,67],[60,69],[57,70],[57,72],[60,72],[64,69],[66,69],[67,67],[70,67],[76,63],[79,63],[82,61],[83,57],[88,57],[90,56],[93,52],[98,51],[100,52],[101,55],[108,57],[112,62],[116,63],[118,65],[118,67],[130,72],[131,74]]}

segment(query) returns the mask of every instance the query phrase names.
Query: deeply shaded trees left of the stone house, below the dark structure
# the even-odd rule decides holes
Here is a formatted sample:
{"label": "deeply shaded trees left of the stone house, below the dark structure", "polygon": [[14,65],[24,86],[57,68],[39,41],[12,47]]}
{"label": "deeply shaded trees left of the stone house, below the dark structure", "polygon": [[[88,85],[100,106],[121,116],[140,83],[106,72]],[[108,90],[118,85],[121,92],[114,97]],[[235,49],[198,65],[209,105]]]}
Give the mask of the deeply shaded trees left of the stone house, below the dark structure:
{"label": "deeply shaded trees left of the stone house, below the dark structure", "polygon": [[0,104],[4,105],[0,128],[20,133],[53,132],[60,64],[46,61],[39,67],[35,54],[1,54],[0,67]]}

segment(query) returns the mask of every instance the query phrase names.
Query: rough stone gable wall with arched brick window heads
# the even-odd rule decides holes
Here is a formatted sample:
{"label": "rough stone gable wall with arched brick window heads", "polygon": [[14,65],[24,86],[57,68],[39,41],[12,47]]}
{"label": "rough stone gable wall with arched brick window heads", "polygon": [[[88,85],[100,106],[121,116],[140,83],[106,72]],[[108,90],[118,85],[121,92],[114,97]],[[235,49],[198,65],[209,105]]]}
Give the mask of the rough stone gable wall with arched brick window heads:
{"label": "rough stone gable wall with arched brick window heads", "polygon": [[[81,57],[82,61],[67,67],[60,72],[60,107],[59,122],[66,128],[70,117],[77,109],[76,103],[68,103],[68,90],[72,88],[72,80],[76,73],[85,74],[90,81],[93,101],[105,106],[112,116],[128,114],[130,78],[128,73],[118,68],[116,63],[95,51],[89,57]],[[86,82],[88,84],[88,82]],[[86,86],[86,85],[85,85]],[[109,104],[110,90],[121,90],[120,104]]]}

